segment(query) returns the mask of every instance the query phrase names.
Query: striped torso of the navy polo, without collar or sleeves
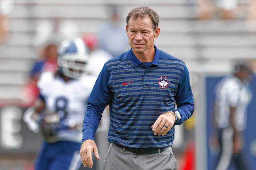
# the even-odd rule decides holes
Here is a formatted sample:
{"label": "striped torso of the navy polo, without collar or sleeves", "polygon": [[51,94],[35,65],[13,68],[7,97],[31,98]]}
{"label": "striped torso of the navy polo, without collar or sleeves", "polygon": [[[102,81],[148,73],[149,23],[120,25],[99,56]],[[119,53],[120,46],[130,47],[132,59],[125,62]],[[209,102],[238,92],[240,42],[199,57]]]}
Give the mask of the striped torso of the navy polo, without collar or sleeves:
{"label": "striped torso of the navy polo, without collar or sleeves", "polygon": [[[110,105],[108,140],[132,148],[169,147],[174,127],[165,135],[154,135],[151,126],[163,113],[174,109],[177,89],[185,64],[180,60],[159,58],[158,66],[134,66],[130,57],[105,63],[113,92]],[[162,89],[160,77],[168,80]],[[128,83],[123,85],[123,83]]]}

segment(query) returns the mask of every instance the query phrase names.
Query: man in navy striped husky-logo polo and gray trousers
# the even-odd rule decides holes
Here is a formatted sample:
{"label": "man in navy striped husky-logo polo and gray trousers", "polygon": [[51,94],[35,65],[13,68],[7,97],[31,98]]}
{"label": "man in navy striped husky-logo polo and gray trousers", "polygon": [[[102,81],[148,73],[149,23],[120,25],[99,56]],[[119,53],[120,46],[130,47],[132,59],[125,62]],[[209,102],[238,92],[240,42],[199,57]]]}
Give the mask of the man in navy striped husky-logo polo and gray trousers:
{"label": "man in navy striped husky-logo polo and gray trousers", "polygon": [[158,21],[158,14],[147,6],[129,12],[126,34],[131,49],[105,63],[88,99],[80,150],[85,167],[93,166],[92,152],[100,159],[94,134],[110,105],[105,170],[177,169],[171,148],[174,125],[191,117],[194,99],[184,62],[154,45]]}

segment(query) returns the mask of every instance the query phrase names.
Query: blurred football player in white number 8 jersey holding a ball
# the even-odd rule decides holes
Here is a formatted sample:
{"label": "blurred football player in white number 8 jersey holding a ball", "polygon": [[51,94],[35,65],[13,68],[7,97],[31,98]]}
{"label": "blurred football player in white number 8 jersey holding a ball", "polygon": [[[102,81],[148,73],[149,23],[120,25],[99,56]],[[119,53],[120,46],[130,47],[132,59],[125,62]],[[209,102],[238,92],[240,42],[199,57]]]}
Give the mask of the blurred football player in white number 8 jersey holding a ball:
{"label": "blurred football player in white number 8 jersey holding a ball", "polygon": [[83,40],[64,40],[57,72],[43,72],[38,81],[39,101],[24,114],[29,129],[40,132],[45,140],[35,170],[75,170],[81,165],[83,117],[96,80],[84,74],[86,53]]}

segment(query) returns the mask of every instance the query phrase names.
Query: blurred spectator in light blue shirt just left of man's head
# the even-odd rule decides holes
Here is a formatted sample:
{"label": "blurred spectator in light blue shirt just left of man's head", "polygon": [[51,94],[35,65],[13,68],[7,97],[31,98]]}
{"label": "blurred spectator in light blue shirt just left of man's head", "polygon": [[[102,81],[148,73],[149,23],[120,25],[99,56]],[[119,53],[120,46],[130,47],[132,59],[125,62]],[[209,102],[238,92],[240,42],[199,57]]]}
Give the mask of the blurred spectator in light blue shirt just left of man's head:
{"label": "blurred spectator in light blue shirt just left of man's head", "polygon": [[125,27],[120,22],[119,11],[116,6],[107,8],[110,20],[103,24],[98,32],[100,48],[112,57],[122,54],[129,49],[128,38],[125,34]]}

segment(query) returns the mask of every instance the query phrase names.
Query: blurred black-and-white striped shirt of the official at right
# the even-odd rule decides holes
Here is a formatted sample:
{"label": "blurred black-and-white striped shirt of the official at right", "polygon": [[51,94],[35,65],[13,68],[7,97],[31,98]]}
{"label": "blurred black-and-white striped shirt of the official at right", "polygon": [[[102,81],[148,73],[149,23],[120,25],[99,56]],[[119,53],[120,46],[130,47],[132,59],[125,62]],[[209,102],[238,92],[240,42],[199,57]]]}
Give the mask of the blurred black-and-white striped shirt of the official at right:
{"label": "blurred black-and-white striped shirt of the official at right", "polygon": [[235,126],[242,131],[246,127],[247,105],[251,101],[252,94],[246,84],[235,76],[222,79],[215,88],[215,121],[219,128],[229,126],[230,107],[236,108]]}

